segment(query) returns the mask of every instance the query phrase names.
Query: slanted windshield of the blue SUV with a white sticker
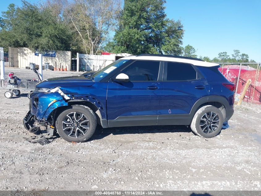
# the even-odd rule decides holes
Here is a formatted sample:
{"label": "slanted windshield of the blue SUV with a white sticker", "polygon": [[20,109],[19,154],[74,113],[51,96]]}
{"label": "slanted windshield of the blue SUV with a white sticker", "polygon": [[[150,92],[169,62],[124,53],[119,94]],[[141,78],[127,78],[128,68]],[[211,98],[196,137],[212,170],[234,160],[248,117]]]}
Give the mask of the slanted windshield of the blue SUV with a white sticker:
{"label": "slanted windshield of the blue SUV with a white sticker", "polygon": [[99,82],[101,79],[103,79],[105,76],[107,76],[110,72],[112,72],[114,69],[120,67],[122,64],[126,63],[127,61],[128,61],[128,59],[116,60],[112,64],[109,64],[105,68],[103,68],[103,69],[99,70],[98,72],[94,73],[93,75],[91,75],[91,78],[94,81]]}

